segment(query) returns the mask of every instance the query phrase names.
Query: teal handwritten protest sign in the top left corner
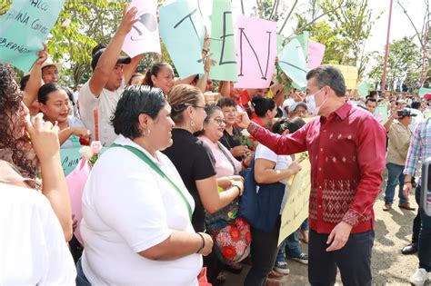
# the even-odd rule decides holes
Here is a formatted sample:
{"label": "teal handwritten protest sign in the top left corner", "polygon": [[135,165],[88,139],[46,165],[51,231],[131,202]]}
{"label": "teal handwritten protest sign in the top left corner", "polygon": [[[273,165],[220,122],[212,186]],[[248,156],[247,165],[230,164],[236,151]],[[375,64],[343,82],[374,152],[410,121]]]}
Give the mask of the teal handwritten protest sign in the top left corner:
{"label": "teal handwritten protest sign in the top left corner", "polygon": [[28,73],[64,2],[15,0],[0,16],[0,61]]}

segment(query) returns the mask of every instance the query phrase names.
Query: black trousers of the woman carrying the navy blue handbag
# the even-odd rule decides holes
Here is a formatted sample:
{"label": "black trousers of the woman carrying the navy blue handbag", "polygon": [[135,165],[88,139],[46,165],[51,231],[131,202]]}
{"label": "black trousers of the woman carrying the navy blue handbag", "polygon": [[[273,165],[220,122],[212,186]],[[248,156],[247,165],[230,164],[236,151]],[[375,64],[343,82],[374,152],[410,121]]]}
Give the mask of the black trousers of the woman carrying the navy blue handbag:
{"label": "black trousers of the woman carrying the navy blue handbag", "polygon": [[252,267],[248,271],[245,286],[263,286],[266,277],[273,269],[278,252],[278,235],[280,234],[281,217],[276,221],[272,232],[262,232],[251,227],[251,260]]}

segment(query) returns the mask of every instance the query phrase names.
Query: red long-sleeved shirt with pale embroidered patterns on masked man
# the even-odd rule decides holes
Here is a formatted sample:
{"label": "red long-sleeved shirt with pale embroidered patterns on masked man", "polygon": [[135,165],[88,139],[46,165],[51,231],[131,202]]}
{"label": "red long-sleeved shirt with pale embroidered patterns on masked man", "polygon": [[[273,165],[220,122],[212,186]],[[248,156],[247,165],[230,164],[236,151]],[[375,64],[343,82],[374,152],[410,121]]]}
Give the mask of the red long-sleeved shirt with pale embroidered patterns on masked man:
{"label": "red long-sleeved shirt with pale embroidered patterns on masked man", "polygon": [[343,221],[352,232],[374,229],[373,205],[385,169],[386,133],[371,113],[346,103],[287,136],[256,123],[248,132],[277,154],[308,151],[310,228],[330,233]]}

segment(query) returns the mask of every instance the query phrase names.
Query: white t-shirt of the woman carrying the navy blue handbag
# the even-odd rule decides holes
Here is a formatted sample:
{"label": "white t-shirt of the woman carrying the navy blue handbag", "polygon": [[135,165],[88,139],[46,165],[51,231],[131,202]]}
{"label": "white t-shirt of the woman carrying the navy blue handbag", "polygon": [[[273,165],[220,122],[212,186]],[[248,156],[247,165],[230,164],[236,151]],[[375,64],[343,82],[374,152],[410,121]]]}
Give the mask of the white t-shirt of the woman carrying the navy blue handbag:
{"label": "white t-shirt of the woman carrying the navy blue handbag", "polygon": [[[274,153],[272,150],[270,150],[268,147],[266,147],[263,144],[258,144],[256,147],[255,160],[256,159],[266,159],[268,161],[276,163],[274,170],[286,170],[293,162],[292,156],[277,155],[276,153]],[[282,180],[280,182],[286,184],[287,179]],[[259,192],[258,186],[257,186],[256,192]],[[285,208],[288,192],[289,192],[289,186],[286,185],[285,195],[283,196],[283,201],[281,202],[280,214],[283,212],[283,209]]]}

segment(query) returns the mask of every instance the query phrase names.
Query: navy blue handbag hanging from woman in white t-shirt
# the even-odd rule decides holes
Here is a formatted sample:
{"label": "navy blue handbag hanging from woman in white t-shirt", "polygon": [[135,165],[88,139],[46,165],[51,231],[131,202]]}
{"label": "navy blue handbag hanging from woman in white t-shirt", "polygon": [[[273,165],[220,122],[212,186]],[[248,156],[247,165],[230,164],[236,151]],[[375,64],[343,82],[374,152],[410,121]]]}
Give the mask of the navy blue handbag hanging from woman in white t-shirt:
{"label": "navy blue handbag hanging from woman in white t-shirt", "polygon": [[[259,191],[256,192],[256,187]],[[286,185],[281,182],[258,184],[255,180],[255,158],[244,179],[244,193],[239,205],[239,216],[262,232],[272,232],[280,214]]]}

